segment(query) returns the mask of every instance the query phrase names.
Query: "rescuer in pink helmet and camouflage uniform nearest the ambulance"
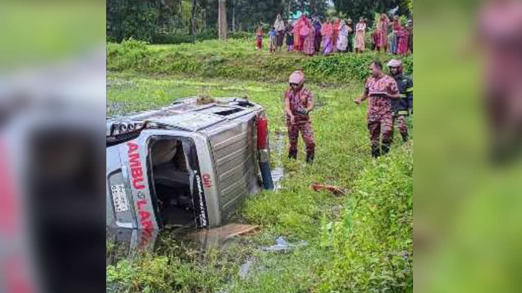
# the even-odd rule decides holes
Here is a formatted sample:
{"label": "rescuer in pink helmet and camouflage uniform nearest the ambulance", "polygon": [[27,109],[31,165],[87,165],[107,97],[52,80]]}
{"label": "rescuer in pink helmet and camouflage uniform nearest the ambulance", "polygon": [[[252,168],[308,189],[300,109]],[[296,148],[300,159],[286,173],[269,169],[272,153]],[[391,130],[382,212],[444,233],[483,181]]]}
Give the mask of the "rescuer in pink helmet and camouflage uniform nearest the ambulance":
{"label": "rescuer in pink helmet and camouflage uniform nearest the ambulance", "polygon": [[297,158],[299,132],[306,144],[306,163],[314,161],[315,142],[310,111],[314,108],[312,94],[304,88],[303,71],[294,71],[289,78],[290,88],[284,93],[284,106],[287,114],[289,158]]}

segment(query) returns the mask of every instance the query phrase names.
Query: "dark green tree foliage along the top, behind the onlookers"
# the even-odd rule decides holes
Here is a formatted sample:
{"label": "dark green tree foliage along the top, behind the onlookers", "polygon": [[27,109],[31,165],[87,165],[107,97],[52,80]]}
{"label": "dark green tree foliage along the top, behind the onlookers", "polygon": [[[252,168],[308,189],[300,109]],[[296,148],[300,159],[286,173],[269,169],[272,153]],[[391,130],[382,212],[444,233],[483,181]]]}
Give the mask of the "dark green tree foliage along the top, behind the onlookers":
{"label": "dark green tree foliage along the top, behind the onlookers", "polygon": [[[335,0],[333,13],[328,13],[327,0],[228,0],[229,31],[253,32],[258,25],[268,29],[277,14],[289,19],[298,11],[322,19],[326,15],[358,19],[399,8],[399,14],[410,14],[411,0]],[[331,10],[331,9],[330,9]],[[192,19],[194,18],[194,27]],[[129,38],[154,44],[178,44],[208,40],[217,36],[218,0],[108,0],[106,35],[111,42]]]}

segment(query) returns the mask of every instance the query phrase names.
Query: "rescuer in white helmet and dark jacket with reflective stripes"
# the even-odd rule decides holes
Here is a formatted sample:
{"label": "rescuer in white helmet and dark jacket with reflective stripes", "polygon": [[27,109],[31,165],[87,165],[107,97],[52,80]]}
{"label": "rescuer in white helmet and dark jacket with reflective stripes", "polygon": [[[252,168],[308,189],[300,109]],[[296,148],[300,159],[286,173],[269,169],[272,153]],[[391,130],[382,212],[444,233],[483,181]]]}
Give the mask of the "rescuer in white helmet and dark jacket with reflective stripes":
{"label": "rescuer in white helmet and dark jacket with reflective stripes", "polygon": [[[388,62],[390,75],[395,79],[399,89],[400,99],[393,100],[394,124],[397,121],[402,141],[408,141],[408,124],[406,120],[413,108],[413,80],[402,74],[402,63],[400,60],[392,59]],[[393,132],[392,132],[393,133]]]}

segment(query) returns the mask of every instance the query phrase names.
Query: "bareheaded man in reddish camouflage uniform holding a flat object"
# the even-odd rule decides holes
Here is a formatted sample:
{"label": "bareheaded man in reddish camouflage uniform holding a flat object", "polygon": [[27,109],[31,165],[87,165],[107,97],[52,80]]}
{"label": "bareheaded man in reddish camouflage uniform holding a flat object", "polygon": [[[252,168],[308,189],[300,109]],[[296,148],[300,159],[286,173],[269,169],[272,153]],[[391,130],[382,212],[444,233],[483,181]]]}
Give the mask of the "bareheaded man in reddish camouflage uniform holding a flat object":
{"label": "bareheaded man in reddish camouflage uniform holding a flat object", "polygon": [[390,148],[393,131],[393,99],[399,99],[397,83],[392,77],[383,73],[383,65],[380,61],[370,64],[371,76],[366,79],[364,93],[356,99],[356,104],[369,98],[368,111],[366,113],[370,140],[372,144],[372,156],[381,155],[379,138],[382,132],[382,154],[386,154]]}

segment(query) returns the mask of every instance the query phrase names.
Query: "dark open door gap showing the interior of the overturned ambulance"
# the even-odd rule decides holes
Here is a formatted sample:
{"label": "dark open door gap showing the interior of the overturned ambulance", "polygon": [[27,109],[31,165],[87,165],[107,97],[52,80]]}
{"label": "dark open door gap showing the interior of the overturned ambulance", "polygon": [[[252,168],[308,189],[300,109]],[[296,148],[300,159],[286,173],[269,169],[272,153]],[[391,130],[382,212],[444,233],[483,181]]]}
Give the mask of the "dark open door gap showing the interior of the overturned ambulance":
{"label": "dark open door gap showing the interior of the overturned ambulance", "polygon": [[195,226],[194,202],[183,142],[161,138],[150,147],[158,216],[164,227]]}

